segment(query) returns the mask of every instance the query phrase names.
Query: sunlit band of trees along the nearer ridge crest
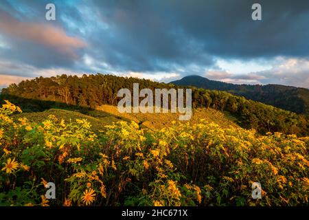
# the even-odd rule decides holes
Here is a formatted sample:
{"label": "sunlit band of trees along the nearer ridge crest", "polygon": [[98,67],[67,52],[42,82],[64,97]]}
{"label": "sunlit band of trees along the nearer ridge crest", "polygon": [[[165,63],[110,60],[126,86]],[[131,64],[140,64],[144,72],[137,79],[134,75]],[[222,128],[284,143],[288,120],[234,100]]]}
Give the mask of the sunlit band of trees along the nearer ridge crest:
{"label": "sunlit band of trees along the nearer ridge crest", "polygon": [[[23,80],[19,85],[12,84],[3,89],[2,96],[11,95],[34,100],[49,100],[94,109],[101,104],[116,105],[120,100],[117,97],[119,89],[133,90],[133,83],[139,83],[139,89],[179,87],[151,80],[103,74],[81,77],[61,75]],[[12,101],[19,104],[19,100]],[[247,100],[241,96],[233,96],[225,91],[192,87],[192,102],[193,107],[210,107],[220,111],[228,111],[238,118],[238,123],[241,126],[247,129],[256,129],[260,133],[280,131],[308,135],[309,125],[306,116]],[[36,111],[35,107],[32,110]]]}

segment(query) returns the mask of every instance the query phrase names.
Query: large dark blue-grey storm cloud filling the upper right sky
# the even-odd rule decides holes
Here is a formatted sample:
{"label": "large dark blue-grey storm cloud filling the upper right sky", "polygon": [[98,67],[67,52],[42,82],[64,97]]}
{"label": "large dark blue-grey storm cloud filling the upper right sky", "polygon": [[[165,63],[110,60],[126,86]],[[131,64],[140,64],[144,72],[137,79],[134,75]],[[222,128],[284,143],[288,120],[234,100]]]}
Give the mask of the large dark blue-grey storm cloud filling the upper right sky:
{"label": "large dark blue-grey storm cloud filling the upper right sky", "polygon": [[262,21],[251,19],[251,5],[257,1],[250,0],[93,2],[125,43],[155,58],[203,63],[205,54],[228,58],[309,54],[309,1],[258,1]]}

